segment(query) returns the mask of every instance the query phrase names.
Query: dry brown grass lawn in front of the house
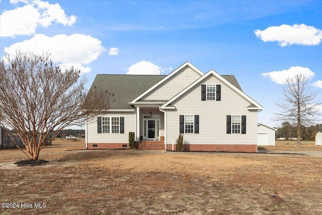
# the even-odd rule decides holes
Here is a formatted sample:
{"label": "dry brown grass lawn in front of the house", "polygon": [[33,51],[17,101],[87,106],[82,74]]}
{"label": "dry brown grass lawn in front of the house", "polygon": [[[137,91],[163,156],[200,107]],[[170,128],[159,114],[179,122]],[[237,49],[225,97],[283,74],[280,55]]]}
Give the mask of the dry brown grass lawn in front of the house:
{"label": "dry brown grass lawn in front of the house", "polygon": [[322,158],[84,148],[55,140],[37,167],[0,151],[1,202],[46,203],[0,214],[322,213]]}

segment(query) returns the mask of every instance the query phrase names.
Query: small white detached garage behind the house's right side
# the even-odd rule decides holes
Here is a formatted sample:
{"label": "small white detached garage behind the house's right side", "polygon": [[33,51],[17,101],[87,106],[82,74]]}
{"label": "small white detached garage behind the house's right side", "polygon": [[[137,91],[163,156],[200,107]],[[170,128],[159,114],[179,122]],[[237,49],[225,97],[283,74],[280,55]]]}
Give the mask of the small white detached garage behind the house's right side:
{"label": "small white detached garage behind the house's right side", "polygon": [[257,145],[258,146],[275,146],[276,128],[270,127],[263,123],[257,124]]}

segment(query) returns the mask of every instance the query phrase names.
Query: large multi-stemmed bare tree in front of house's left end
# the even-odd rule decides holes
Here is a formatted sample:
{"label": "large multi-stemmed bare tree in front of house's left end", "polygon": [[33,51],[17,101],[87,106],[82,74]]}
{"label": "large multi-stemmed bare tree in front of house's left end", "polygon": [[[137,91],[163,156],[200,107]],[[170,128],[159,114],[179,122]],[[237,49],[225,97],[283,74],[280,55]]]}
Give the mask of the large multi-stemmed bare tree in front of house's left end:
{"label": "large multi-stemmed bare tree in front of house's left end", "polygon": [[94,116],[93,110],[108,109],[104,93],[91,91],[85,102],[86,78],[79,78],[73,67],[61,70],[49,53],[18,50],[3,59],[0,123],[17,131],[29,155],[22,152],[30,159],[38,160],[46,139],[53,140],[66,126],[81,125],[85,117]]}

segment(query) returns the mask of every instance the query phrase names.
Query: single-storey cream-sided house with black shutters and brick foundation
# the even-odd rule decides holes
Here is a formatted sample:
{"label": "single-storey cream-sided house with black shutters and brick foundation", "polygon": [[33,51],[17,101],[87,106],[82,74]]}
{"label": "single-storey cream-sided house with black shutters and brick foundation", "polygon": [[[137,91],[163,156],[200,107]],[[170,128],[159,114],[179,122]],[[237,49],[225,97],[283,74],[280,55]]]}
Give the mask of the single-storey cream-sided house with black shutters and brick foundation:
{"label": "single-storey cream-sided house with black shutters and brick foundation", "polygon": [[[185,62],[168,76],[97,75],[91,89],[112,92],[109,108],[86,121],[87,149],[141,145],[184,151],[257,152],[257,114],[263,107],[233,75],[204,74]],[[151,149],[151,148],[146,148]]]}

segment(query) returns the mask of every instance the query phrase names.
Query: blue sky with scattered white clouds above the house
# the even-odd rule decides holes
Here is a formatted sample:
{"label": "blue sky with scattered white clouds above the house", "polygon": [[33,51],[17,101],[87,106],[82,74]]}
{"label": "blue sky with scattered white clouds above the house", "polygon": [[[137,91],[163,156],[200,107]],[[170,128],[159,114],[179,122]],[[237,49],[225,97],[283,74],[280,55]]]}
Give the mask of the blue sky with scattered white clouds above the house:
{"label": "blue sky with scattered white clouds above the house", "polygon": [[286,78],[307,77],[322,101],[322,1],[4,1],[0,55],[49,50],[96,74],[167,75],[186,61],[234,75],[272,112]]}

